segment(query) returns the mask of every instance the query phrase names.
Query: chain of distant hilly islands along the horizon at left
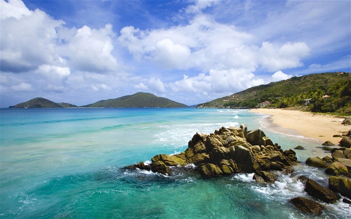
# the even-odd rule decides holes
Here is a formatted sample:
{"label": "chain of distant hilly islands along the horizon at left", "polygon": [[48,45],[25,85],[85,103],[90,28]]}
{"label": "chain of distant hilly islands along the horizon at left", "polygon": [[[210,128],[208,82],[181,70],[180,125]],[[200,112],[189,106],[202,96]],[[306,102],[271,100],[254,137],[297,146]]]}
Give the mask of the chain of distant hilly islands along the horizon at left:
{"label": "chain of distant hilly islands along the horizon at left", "polygon": [[[77,108],[78,106],[70,103],[55,103],[51,100],[37,97],[32,100],[19,103],[9,108]],[[150,93],[138,92],[133,95],[127,95],[116,99],[100,100],[96,103],[79,106],[84,108],[181,108],[188,107],[185,104],[178,103],[167,98],[157,97]]]}

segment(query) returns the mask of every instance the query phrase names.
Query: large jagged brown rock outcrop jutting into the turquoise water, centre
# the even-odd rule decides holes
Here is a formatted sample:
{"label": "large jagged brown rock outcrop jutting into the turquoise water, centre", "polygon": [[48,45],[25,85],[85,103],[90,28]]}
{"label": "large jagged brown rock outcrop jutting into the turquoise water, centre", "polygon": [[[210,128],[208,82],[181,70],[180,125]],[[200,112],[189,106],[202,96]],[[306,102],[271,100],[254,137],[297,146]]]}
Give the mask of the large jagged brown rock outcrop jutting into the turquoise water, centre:
{"label": "large jagged brown rock outcrop jutting into the turquoise water, centre", "polygon": [[[273,144],[262,130],[248,131],[245,125],[222,127],[211,134],[197,132],[180,154],[159,154],[150,166],[134,164],[135,168],[150,168],[153,172],[171,174],[170,166],[195,164],[205,177],[250,173],[261,170],[283,170],[297,161],[293,150],[283,151]],[[130,168],[129,168],[130,169]]]}

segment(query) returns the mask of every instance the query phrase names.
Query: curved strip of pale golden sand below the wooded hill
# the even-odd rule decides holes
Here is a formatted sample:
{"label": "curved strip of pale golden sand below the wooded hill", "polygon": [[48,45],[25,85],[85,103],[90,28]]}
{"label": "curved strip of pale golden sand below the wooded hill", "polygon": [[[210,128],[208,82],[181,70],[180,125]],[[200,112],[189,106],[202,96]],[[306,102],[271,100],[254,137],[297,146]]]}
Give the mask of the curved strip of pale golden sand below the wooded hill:
{"label": "curved strip of pale golden sand below the wooded hill", "polygon": [[339,144],[341,138],[333,135],[341,135],[341,132],[351,129],[349,125],[341,125],[343,118],[335,116],[283,109],[251,109],[251,112],[270,115],[265,121],[267,127],[273,130],[300,134],[321,142],[331,141],[335,145]]}

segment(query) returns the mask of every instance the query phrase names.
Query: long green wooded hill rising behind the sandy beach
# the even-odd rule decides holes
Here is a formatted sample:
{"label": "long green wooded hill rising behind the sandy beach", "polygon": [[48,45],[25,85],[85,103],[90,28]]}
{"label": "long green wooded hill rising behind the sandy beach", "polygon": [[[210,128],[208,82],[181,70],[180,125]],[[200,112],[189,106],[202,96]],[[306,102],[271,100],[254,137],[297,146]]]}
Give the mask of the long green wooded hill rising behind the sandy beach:
{"label": "long green wooded hill rising behind the sandy beach", "polygon": [[[310,74],[272,82],[199,104],[197,108],[285,108],[300,106],[314,112],[351,113],[349,74]],[[329,98],[322,98],[329,95]],[[305,100],[309,104],[305,106]],[[266,102],[268,101],[268,102]],[[260,104],[266,102],[267,104]]]}

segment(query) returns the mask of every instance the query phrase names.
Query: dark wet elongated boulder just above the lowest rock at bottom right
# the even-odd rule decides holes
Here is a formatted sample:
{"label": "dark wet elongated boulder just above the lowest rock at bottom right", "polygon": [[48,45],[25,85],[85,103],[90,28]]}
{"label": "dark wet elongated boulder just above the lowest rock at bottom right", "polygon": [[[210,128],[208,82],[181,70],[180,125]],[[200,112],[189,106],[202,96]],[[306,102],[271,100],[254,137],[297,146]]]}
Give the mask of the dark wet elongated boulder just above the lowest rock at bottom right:
{"label": "dark wet elongated boulder just above the lowest rock at bottom right", "polygon": [[332,190],[325,188],[312,179],[308,179],[305,185],[305,191],[311,196],[318,198],[327,203],[333,203],[340,199],[340,195]]}

